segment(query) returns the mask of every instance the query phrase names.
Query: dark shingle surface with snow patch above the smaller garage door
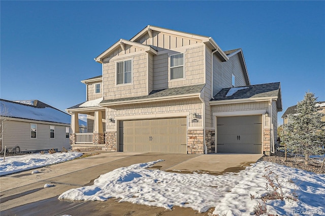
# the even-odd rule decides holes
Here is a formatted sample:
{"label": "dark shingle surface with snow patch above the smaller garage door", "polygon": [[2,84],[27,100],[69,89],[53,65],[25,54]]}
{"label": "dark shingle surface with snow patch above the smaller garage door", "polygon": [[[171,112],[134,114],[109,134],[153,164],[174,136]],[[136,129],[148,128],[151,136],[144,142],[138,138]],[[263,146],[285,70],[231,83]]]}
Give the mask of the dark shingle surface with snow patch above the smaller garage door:
{"label": "dark shingle surface with snow patch above the smaller garage door", "polygon": [[[215,100],[232,100],[232,99],[246,99],[246,98],[257,98],[257,97],[275,97],[278,96],[280,91],[280,83],[265,83],[251,86],[243,86],[247,87],[245,89],[240,89],[231,96],[226,96],[231,88],[223,88],[221,89],[215,96]],[[240,87],[235,87],[240,88]]]}

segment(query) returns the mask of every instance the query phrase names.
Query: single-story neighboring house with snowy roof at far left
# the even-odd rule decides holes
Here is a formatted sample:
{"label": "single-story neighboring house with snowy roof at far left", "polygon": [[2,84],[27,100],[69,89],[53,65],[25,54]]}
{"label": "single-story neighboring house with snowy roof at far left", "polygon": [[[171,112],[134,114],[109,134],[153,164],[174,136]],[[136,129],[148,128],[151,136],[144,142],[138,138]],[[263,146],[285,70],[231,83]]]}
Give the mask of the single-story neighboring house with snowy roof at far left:
{"label": "single-story neighboring house with snowy roof at far left", "polygon": [[62,147],[71,149],[71,116],[39,100],[10,101],[0,99],[1,151],[19,147],[22,152],[37,152]]}

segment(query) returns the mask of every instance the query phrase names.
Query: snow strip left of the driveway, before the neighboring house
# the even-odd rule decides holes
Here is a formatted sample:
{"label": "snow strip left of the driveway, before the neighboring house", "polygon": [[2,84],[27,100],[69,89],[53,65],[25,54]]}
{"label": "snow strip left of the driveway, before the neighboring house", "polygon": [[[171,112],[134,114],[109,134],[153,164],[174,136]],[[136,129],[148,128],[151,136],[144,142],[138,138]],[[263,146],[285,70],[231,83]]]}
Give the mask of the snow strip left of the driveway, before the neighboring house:
{"label": "snow strip left of the driveway, before the neighboring house", "polygon": [[51,164],[69,161],[78,158],[82,153],[68,152],[55,154],[30,154],[19,156],[8,156],[0,159],[0,175],[7,175],[28,169],[48,166]]}

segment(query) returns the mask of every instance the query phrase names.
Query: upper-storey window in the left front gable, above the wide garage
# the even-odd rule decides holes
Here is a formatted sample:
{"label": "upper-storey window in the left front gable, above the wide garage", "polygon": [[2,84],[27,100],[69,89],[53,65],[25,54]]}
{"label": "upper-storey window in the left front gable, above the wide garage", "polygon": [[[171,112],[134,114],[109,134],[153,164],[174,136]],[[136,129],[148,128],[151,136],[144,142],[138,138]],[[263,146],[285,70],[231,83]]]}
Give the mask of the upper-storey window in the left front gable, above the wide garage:
{"label": "upper-storey window in the left front gable, above the wide garage", "polygon": [[116,84],[132,83],[132,60],[116,63]]}

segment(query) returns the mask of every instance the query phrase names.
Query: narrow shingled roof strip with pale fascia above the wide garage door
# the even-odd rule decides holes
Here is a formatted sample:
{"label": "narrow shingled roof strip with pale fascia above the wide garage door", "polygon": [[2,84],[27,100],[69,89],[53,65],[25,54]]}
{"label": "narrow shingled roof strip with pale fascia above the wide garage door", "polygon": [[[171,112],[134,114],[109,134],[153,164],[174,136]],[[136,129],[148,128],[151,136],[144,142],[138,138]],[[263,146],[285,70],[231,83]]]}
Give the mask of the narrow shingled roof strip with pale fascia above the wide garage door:
{"label": "narrow shingled roof strip with pale fascia above the wide garage door", "polygon": [[205,84],[153,90],[150,92],[149,95],[103,100],[100,103],[100,105],[110,105],[110,104],[117,105],[119,103],[129,103],[135,101],[141,102],[141,101],[152,101],[152,100],[167,99],[167,98],[170,99],[172,97],[179,98],[180,96],[187,97],[194,94],[197,94],[198,96],[201,93],[204,85]]}

